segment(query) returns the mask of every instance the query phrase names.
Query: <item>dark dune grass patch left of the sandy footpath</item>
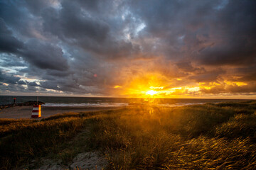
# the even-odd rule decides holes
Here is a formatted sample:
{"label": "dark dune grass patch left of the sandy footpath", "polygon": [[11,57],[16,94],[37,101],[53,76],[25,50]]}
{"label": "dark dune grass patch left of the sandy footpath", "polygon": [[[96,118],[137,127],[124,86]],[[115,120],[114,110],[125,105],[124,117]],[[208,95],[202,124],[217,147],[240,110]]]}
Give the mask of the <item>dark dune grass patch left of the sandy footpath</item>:
{"label": "dark dune grass patch left of the sandy footpath", "polygon": [[59,143],[73,137],[84,124],[85,121],[79,118],[61,118],[10,125],[1,137],[1,165],[6,169],[18,168],[28,164],[30,159],[55,152]]}

